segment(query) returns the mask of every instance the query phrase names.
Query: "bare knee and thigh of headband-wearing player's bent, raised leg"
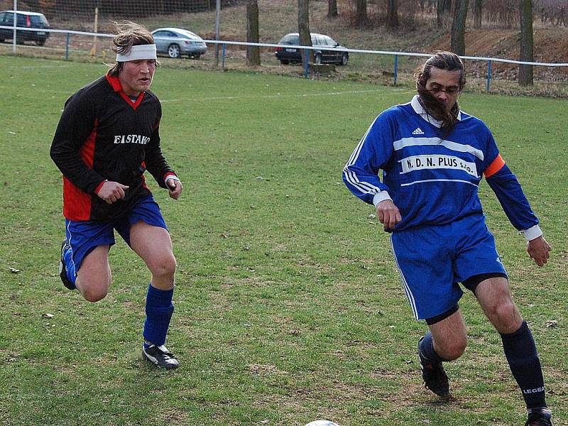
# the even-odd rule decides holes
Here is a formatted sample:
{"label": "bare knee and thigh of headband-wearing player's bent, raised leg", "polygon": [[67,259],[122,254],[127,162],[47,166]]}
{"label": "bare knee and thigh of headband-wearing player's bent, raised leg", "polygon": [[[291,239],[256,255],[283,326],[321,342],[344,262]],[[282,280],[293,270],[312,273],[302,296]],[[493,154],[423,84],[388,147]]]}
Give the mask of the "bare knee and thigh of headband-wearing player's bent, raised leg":
{"label": "bare knee and thigh of headband-wearing player's bent, raised leg", "polygon": [[77,286],[87,300],[96,302],[109,292],[111,269],[109,245],[95,247],[83,259],[77,271]]}

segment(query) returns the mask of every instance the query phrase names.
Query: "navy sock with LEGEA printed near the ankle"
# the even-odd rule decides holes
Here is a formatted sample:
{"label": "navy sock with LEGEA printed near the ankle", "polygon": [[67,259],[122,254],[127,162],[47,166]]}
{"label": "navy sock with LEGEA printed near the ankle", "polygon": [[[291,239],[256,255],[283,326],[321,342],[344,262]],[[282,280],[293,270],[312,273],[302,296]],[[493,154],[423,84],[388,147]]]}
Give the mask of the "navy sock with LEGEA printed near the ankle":
{"label": "navy sock with LEGEA printed near the ankle", "polygon": [[526,321],[510,334],[501,334],[505,356],[517,381],[527,408],[545,408],[545,381],[537,354],[535,340]]}

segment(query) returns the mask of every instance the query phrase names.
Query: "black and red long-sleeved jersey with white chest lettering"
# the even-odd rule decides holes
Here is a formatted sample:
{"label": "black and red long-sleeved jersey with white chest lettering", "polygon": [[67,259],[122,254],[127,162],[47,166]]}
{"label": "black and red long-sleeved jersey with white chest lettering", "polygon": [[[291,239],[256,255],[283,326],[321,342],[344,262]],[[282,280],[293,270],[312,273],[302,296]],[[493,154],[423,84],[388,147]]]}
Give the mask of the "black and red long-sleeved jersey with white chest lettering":
{"label": "black and red long-sleeved jersey with white chest lettering", "polygon": [[[175,174],[160,150],[160,101],[141,92],[135,102],[118,77],[95,80],[72,95],[55,131],[50,155],[63,174],[63,215],[109,220],[150,194],[146,169],[160,187]],[[95,191],[110,180],[128,185],[123,199],[107,204]]]}

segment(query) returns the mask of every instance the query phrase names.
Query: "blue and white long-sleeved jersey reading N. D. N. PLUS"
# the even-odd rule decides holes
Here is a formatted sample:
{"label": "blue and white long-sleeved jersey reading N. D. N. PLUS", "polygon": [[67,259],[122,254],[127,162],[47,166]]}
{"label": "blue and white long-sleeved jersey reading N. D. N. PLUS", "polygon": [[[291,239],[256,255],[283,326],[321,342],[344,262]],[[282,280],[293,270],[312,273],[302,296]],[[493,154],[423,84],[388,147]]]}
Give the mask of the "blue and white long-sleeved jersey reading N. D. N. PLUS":
{"label": "blue and white long-sleeved jersey reading N. D. N. PLUS", "polygon": [[395,230],[401,230],[483,214],[478,196],[483,175],[513,226],[528,231],[528,239],[540,236],[538,219],[486,124],[460,111],[444,138],[439,121],[417,96],[373,121],[345,165],[343,179],[369,204],[393,200],[403,218]]}

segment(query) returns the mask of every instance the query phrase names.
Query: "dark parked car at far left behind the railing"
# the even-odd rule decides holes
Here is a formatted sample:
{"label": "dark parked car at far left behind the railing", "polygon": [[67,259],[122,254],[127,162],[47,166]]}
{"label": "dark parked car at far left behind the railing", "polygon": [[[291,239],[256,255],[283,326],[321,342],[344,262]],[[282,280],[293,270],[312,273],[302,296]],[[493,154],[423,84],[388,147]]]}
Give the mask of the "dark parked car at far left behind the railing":
{"label": "dark parked car at far left behind the railing", "polygon": [[[0,26],[13,26],[13,11],[0,12]],[[16,26],[26,28],[49,28],[48,20],[43,13],[16,11]],[[16,43],[33,41],[38,46],[43,46],[49,38],[48,31],[23,31],[16,30]],[[13,30],[0,28],[0,42],[13,39]]]}

